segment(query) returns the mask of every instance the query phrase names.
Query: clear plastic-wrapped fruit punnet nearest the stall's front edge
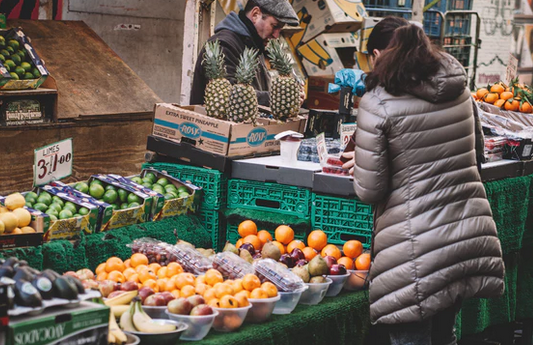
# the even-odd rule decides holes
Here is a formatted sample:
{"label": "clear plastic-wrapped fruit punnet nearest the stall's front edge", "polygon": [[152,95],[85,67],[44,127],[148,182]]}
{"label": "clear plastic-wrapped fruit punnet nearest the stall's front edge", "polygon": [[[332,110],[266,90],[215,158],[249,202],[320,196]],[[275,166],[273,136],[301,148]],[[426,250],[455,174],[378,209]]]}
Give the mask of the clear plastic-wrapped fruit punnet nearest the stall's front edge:
{"label": "clear plastic-wrapped fruit punnet nearest the stall's front edge", "polygon": [[254,268],[261,281],[266,279],[272,282],[280,291],[295,291],[305,287],[302,278],[272,259],[257,260]]}

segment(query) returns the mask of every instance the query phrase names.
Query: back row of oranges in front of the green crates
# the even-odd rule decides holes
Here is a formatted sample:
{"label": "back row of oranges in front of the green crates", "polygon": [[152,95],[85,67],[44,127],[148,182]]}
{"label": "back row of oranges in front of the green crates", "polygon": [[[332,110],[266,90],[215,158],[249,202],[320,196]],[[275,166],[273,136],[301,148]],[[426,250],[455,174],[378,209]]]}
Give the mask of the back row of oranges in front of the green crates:
{"label": "back row of oranges in front of the green crates", "polygon": [[[342,251],[334,244],[328,244],[328,236],[322,230],[314,230],[307,236],[307,245],[294,239],[294,231],[287,225],[280,225],[272,235],[266,230],[257,230],[257,225],[251,220],[239,224],[241,238],[235,246],[239,248],[244,243],[250,243],[255,250],[261,250],[268,241],[275,244],[281,254],[290,253],[294,248],[299,248],[305,255],[305,260],[311,261],[316,255],[333,256],[337,263],[343,264],[346,269],[368,270],[370,267],[370,254],[363,253],[363,244],[357,240],[344,243]],[[344,253],[344,254],[343,254]]]}

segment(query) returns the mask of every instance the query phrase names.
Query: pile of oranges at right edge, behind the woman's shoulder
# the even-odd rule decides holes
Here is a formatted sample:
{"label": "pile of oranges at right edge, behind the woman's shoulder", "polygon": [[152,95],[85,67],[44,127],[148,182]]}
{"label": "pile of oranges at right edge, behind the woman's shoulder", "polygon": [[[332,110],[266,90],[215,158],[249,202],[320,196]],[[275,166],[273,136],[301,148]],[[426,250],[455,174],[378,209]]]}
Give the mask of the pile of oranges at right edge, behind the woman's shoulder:
{"label": "pile of oranges at right edge, behind the woman's shoulder", "polygon": [[486,88],[479,88],[472,97],[478,101],[490,103],[500,109],[508,111],[519,111],[531,113],[531,101],[533,101],[531,90],[524,85],[513,83],[507,86],[502,82],[489,85]]}

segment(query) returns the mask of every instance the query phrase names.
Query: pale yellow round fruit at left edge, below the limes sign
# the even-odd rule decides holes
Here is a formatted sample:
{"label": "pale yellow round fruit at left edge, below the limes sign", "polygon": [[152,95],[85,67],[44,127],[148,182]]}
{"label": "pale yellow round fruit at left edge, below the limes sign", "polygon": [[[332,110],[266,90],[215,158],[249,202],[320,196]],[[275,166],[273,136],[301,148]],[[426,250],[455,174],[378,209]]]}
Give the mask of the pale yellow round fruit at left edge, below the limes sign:
{"label": "pale yellow round fruit at left edge, below the limes sign", "polygon": [[0,235],[17,235],[35,233],[31,227],[32,215],[24,196],[14,193],[3,200],[0,204]]}

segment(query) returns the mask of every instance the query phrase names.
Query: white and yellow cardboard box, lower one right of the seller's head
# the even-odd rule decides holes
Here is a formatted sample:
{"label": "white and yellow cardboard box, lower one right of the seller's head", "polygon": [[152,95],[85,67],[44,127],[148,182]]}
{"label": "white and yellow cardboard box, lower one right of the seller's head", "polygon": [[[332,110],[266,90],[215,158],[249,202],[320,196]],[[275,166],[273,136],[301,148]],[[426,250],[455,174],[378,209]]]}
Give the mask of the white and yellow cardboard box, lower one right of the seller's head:
{"label": "white and yellow cardboard box, lower one right of the seller's head", "polygon": [[353,68],[357,41],[353,33],[322,34],[300,46],[298,53],[309,77],[330,76]]}

